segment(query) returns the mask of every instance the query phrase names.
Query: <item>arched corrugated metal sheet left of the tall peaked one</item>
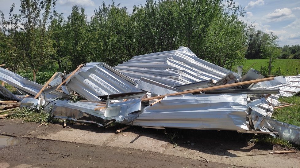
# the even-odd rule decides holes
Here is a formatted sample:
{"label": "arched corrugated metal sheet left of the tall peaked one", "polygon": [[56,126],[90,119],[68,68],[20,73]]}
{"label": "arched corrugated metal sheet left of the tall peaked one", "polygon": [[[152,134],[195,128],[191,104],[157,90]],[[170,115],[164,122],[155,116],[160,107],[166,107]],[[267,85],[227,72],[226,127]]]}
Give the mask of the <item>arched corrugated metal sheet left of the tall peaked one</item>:
{"label": "arched corrugated metal sheet left of the tall peaked one", "polygon": [[91,62],[71,76],[65,86],[75,90],[87,100],[102,101],[99,96],[143,91],[136,88],[135,84],[133,80],[109,65]]}

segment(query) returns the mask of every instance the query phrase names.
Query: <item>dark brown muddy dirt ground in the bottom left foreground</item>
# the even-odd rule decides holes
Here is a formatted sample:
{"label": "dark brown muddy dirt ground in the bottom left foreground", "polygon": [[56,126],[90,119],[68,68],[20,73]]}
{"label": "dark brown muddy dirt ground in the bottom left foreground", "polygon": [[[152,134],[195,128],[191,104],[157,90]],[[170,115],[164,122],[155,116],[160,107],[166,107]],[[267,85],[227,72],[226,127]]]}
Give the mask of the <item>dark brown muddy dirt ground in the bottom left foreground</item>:
{"label": "dark brown muddy dirt ground in the bottom left foreground", "polygon": [[203,163],[156,152],[100,147],[88,144],[17,138],[15,146],[0,148],[2,163],[39,167],[232,167],[221,163]]}

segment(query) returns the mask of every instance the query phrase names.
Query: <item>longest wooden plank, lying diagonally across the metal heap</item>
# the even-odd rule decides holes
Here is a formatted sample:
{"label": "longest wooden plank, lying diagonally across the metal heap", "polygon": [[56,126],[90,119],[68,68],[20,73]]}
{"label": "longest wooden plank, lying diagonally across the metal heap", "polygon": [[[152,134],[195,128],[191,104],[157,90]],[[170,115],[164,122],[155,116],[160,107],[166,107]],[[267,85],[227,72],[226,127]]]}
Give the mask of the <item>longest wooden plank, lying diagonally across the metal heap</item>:
{"label": "longest wooden plank, lying diagonally across the metal heap", "polygon": [[187,91],[178,92],[178,93],[170,93],[170,94],[165,94],[165,95],[161,95],[161,96],[144,98],[144,99],[142,99],[142,101],[160,99],[160,98],[165,97],[165,96],[175,96],[175,95],[181,95],[181,94],[187,94],[187,93],[203,92],[203,91],[207,91],[207,90],[221,89],[221,88],[232,87],[232,86],[240,86],[240,85],[246,85],[246,84],[257,83],[257,82],[264,82],[264,81],[270,81],[270,80],[274,80],[274,77],[256,79],[256,80],[250,80],[250,81],[244,81],[244,82],[237,82],[237,83],[230,83],[230,84],[226,84],[226,85],[212,86],[212,87],[208,87],[208,88],[187,90]]}

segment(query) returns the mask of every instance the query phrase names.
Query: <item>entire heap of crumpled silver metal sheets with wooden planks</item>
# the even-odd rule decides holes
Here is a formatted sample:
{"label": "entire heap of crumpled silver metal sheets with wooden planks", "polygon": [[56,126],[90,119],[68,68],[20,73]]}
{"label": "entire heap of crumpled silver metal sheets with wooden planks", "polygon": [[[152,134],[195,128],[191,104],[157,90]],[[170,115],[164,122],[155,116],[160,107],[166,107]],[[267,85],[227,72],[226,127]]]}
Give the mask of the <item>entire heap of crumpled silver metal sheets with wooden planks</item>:
{"label": "entire heap of crumpled silver metal sheets with wooden planks", "polygon": [[[270,133],[300,142],[300,128],[271,119],[279,96],[300,92],[300,75],[264,78],[242,75],[199,59],[187,47],[135,56],[110,67],[91,62],[70,74],[56,72],[44,85],[0,68],[0,96],[21,107],[44,108],[54,118],[107,126],[234,130]],[[73,102],[69,95],[78,95]],[[20,103],[21,102],[21,103]],[[1,105],[1,101],[0,101]]]}

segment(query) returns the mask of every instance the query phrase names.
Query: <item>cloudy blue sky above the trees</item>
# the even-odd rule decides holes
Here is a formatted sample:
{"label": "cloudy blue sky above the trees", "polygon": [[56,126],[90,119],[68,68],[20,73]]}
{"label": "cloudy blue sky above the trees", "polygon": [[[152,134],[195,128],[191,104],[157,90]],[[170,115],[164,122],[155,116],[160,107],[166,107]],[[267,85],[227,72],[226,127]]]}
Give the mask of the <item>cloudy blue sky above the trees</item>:
{"label": "cloudy blue sky above the trees", "polygon": [[[18,12],[19,0],[0,0],[0,10],[8,15],[11,4],[15,3],[15,12]],[[102,5],[102,0],[57,0],[56,10],[67,17],[72,5],[83,6],[88,18],[93,15],[94,9]],[[144,5],[144,0],[115,0],[115,4],[126,6],[129,13],[133,5]],[[111,1],[106,1],[107,4]],[[240,20],[254,22],[256,29],[266,33],[273,32],[279,37],[279,46],[300,44],[300,0],[236,0],[236,3],[245,7],[247,11]]]}

